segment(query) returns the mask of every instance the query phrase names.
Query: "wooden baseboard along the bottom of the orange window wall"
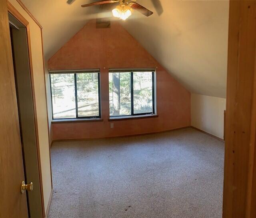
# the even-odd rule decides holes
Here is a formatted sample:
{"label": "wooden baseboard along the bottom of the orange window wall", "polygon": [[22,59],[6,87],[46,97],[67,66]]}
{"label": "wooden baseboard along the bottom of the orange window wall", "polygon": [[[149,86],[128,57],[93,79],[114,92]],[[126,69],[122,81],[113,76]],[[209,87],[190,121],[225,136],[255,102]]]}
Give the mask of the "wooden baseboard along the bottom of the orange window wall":
{"label": "wooden baseboard along the bottom of the orange window wall", "polygon": [[159,132],[149,132],[149,133],[143,133],[143,134],[134,134],[134,135],[125,135],[125,136],[110,136],[110,137],[102,137],[102,138],[67,138],[67,139],[54,139],[52,140],[52,144],[54,142],[76,142],[76,141],[89,141],[89,140],[97,140],[97,139],[108,139],[108,138],[126,138],[126,137],[134,137],[134,136],[146,136],[146,135],[152,135],[152,134],[158,134],[158,133],[165,133],[165,132],[173,132],[177,130],[183,130],[183,129],[188,129],[191,128],[191,126],[185,126],[181,128],[176,128],[172,130],[164,130],[164,131],[159,131]]}

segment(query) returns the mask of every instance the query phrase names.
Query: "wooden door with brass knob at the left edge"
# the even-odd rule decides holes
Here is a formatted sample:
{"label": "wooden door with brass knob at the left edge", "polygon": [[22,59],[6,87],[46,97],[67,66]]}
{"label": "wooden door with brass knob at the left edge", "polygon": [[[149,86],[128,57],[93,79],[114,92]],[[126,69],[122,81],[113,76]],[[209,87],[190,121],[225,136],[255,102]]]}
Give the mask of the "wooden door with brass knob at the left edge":
{"label": "wooden door with brass knob at the left edge", "polygon": [[0,0],[0,217],[28,217],[6,0]]}

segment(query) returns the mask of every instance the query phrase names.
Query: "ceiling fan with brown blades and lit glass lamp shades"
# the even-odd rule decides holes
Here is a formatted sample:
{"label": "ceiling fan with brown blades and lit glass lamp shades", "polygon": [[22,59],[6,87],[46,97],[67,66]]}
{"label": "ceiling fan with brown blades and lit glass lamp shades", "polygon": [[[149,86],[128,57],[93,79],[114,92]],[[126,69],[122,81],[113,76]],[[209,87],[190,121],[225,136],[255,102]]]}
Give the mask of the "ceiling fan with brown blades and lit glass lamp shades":
{"label": "ceiling fan with brown blades and lit glass lamp shades", "polygon": [[[93,2],[90,4],[83,4],[81,6],[85,8],[89,6],[95,6],[95,5],[106,5],[106,4],[118,3],[116,8],[112,10],[112,14],[114,17],[120,18],[122,20],[126,20],[128,17],[130,17],[132,15],[133,10],[137,10],[138,12],[140,12],[145,16],[150,16],[153,14],[152,11],[138,4],[136,1],[137,0],[102,0],[102,1]],[[163,8],[161,5],[161,2],[159,0],[151,0],[151,1],[153,2],[154,7],[158,12],[158,15],[162,14]],[[72,4],[72,2],[74,2],[74,0],[67,1],[68,4]]]}

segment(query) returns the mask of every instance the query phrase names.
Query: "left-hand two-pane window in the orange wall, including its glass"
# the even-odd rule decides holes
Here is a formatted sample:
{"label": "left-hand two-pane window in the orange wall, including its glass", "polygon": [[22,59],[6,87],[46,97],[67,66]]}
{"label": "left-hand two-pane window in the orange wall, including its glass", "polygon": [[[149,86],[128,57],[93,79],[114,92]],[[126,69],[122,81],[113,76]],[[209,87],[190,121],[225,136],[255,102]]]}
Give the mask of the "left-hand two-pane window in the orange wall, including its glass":
{"label": "left-hand two-pane window in the orange wall, including its glass", "polygon": [[53,119],[100,118],[99,72],[51,72]]}

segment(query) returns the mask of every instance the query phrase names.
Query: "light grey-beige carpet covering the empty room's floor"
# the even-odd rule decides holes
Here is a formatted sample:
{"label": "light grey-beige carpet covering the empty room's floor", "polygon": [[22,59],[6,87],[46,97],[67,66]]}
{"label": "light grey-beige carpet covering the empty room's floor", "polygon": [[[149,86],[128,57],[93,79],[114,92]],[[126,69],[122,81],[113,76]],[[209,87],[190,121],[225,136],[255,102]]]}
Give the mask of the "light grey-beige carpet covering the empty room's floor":
{"label": "light grey-beige carpet covering the empty room's floor", "polygon": [[224,143],[194,129],[51,151],[50,218],[221,218]]}

